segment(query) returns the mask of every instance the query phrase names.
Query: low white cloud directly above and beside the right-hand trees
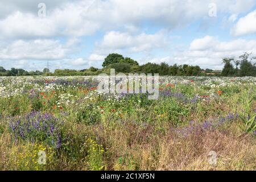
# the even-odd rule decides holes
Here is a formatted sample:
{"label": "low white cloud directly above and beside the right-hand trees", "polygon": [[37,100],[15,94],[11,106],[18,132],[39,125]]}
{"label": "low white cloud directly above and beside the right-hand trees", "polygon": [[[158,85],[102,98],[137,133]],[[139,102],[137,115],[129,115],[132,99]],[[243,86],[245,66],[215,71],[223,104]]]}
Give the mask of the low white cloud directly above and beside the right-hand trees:
{"label": "low white cloud directly above and beside the right-hand trees", "polygon": [[221,42],[216,37],[205,36],[195,39],[190,47],[166,57],[172,63],[200,65],[203,68],[222,68],[222,58],[238,57],[244,52],[256,53],[256,40],[237,39]]}

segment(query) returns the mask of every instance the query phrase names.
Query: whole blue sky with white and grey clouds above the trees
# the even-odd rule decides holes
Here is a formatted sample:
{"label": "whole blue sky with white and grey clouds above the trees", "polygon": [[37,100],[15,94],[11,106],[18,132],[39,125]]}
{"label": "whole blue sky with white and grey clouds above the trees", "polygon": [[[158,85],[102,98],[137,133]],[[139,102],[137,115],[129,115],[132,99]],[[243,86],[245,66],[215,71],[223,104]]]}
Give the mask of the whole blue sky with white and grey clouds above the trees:
{"label": "whole blue sky with white and grey clouds above the trees", "polygon": [[222,69],[256,56],[255,0],[1,0],[0,66],[101,68],[109,53]]}

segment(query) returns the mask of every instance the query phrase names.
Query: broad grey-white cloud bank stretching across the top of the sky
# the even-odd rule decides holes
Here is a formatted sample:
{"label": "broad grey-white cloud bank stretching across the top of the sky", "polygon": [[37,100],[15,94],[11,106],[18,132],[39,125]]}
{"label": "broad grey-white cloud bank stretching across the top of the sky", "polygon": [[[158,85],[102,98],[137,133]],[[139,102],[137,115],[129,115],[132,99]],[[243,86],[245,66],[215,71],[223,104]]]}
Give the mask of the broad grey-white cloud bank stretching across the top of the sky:
{"label": "broad grey-white cloud bank stretching across the top of the sky", "polygon": [[[12,11],[0,19],[2,38],[38,38],[51,36],[92,35],[98,30],[132,28],[147,20],[154,26],[184,27],[197,19],[208,16],[212,1],[177,0],[80,0],[46,1],[47,16],[39,18],[35,2],[1,2]],[[39,1],[36,1],[39,2]],[[239,14],[255,5],[253,0],[216,0],[217,13]],[[1,5],[0,4],[0,5]],[[26,5],[26,6],[25,6]],[[242,6],[241,6],[242,5]],[[124,23],[125,22],[125,23]],[[129,27],[127,27],[129,25]]]}

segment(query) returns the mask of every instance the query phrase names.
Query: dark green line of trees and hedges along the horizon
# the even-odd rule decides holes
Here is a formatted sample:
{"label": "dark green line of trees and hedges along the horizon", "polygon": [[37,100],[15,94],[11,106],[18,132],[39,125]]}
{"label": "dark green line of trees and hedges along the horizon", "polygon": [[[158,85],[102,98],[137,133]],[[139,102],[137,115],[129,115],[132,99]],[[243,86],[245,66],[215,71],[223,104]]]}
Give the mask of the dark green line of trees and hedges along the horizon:
{"label": "dark green line of trees and hedges along the horizon", "polygon": [[[0,76],[93,76],[100,73],[110,73],[110,69],[115,69],[115,72],[122,73],[159,73],[161,76],[256,76],[255,64],[251,63],[249,53],[244,53],[238,59],[226,57],[222,61],[225,64],[222,72],[214,72],[212,69],[201,69],[198,65],[168,65],[167,63],[139,63],[130,57],[123,57],[118,53],[110,53],[104,60],[102,68],[90,67],[89,69],[55,69],[53,73],[49,72],[48,68],[43,71],[30,71],[24,69],[11,68],[6,70],[0,67]],[[250,59],[250,60],[249,60]],[[234,64],[234,65],[233,65]]]}

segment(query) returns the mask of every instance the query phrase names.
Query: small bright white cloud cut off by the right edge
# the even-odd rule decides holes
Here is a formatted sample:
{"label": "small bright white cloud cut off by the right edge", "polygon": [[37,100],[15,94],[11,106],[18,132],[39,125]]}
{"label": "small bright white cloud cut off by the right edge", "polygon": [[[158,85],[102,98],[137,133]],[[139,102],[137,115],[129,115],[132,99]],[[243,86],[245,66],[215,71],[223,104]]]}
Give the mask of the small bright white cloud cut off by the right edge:
{"label": "small bright white cloud cut off by the right edge", "polygon": [[256,10],[240,18],[232,29],[234,36],[256,33]]}

